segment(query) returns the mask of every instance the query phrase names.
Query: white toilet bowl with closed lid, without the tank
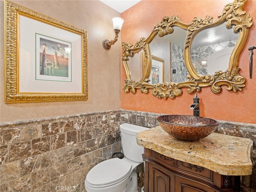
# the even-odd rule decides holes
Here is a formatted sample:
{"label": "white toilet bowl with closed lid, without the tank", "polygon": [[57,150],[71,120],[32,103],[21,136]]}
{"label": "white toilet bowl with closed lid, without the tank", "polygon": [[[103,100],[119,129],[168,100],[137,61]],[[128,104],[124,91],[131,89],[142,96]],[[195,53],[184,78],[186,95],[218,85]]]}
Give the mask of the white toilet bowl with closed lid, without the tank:
{"label": "white toilet bowl with closed lid, without the tank", "polygon": [[137,182],[139,164],[127,158],[103,161],[88,172],[85,188],[88,192],[137,192],[138,185],[133,183]]}

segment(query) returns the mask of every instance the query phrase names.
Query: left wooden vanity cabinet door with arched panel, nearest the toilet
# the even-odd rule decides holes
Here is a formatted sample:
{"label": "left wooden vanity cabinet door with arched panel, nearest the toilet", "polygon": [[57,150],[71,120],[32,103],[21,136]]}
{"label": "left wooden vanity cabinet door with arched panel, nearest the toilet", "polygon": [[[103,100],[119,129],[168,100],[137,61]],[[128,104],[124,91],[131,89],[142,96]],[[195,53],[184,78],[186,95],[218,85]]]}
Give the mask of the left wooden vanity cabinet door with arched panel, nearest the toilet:
{"label": "left wooden vanity cabinet door with arched panel, nearest the toilet", "polygon": [[149,192],[174,192],[175,176],[172,172],[157,166],[149,164]]}

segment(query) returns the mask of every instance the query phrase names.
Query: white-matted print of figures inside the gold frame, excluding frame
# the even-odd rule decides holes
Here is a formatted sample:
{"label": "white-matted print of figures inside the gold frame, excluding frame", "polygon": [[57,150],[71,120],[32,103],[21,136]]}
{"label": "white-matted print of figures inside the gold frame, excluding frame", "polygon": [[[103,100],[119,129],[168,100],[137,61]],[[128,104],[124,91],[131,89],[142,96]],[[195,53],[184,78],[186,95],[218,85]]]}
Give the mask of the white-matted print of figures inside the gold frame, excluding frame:
{"label": "white-matted print of figures inside the gold frame, excluding frame", "polygon": [[81,92],[82,68],[75,65],[82,63],[81,36],[22,15],[19,23],[19,91]]}

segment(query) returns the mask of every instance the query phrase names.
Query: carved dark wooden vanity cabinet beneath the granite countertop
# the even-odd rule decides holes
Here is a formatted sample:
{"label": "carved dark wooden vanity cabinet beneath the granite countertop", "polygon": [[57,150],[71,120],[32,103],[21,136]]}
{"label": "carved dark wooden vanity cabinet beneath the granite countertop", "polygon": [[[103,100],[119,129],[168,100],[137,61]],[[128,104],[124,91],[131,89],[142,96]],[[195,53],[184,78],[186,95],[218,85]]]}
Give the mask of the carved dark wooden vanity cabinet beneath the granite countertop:
{"label": "carved dark wooden vanity cabinet beneath the granite countertop", "polygon": [[145,192],[239,192],[240,176],[224,176],[145,148]]}

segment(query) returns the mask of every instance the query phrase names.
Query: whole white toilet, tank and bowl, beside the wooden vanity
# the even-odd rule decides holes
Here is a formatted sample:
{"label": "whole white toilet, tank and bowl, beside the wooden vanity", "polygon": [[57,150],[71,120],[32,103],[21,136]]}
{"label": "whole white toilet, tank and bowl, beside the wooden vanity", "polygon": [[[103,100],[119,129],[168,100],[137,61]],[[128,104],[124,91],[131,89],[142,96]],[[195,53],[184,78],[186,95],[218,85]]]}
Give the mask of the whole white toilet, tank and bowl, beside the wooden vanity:
{"label": "whole white toilet, tank and bowl, beside the wooden vanity", "polygon": [[120,125],[125,158],[112,158],[94,166],[84,181],[87,192],[138,192],[136,167],[143,162],[144,148],[138,146],[136,134],[147,129],[128,123]]}

